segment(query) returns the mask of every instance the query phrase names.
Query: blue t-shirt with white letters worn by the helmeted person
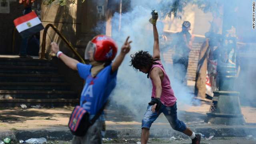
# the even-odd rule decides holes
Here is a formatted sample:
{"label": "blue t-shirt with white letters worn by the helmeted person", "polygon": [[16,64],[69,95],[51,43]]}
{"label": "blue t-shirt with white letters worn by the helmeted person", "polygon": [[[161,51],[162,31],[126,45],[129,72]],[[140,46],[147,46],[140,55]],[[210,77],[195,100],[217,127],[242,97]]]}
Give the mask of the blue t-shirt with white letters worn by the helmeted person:
{"label": "blue t-shirt with white letters worn by the helmeted person", "polygon": [[[85,80],[80,106],[88,111],[90,115],[97,114],[116,86],[117,71],[110,74],[110,64],[93,78],[90,72],[92,65],[78,63],[76,67],[80,77]],[[104,111],[102,114],[104,114]]]}

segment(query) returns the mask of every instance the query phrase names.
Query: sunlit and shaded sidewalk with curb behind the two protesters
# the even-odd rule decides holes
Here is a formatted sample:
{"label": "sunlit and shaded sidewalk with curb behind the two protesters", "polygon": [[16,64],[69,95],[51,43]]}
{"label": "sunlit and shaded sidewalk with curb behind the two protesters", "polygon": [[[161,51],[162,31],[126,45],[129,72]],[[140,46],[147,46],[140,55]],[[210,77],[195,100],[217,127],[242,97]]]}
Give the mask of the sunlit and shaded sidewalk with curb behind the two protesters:
{"label": "sunlit and shaded sidewalk with curb behind the two protesters", "polygon": [[[200,106],[178,106],[178,118],[194,132],[206,137],[246,137],[256,136],[256,108],[241,106],[246,124],[227,126],[207,124],[204,122],[210,102],[201,101]],[[1,108],[0,140],[27,140],[44,137],[47,140],[72,140],[67,124],[73,108]],[[141,119],[144,111],[136,116],[121,106],[108,105],[106,112],[105,138],[140,138]],[[170,138],[181,135],[172,130],[163,114],[152,124],[150,138]]]}

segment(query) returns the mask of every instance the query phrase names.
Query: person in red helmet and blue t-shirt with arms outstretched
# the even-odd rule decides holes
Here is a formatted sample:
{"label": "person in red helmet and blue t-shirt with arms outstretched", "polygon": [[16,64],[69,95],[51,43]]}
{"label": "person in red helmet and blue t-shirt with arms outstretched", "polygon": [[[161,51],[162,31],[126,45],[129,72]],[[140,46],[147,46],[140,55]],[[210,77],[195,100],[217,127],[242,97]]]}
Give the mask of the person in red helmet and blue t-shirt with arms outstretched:
{"label": "person in red helmet and blue t-shirt with arms outstretched", "polygon": [[[82,64],[70,58],[60,51],[56,42],[52,42],[52,51],[69,68],[77,70],[81,78],[85,80],[84,88],[80,97],[80,106],[89,114],[91,120],[95,114],[104,106],[112,90],[116,86],[116,75],[118,67],[124,60],[125,55],[130,51],[129,36],[121,47],[120,54],[116,57],[116,42],[106,35],[95,36],[88,42],[85,56],[89,64]],[[116,59],[114,60],[114,58]],[[112,62],[114,60],[114,62]],[[105,133],[104,111],[89,127],[84,136],[74,136],[72,144],[102,144],[102,137]]]}

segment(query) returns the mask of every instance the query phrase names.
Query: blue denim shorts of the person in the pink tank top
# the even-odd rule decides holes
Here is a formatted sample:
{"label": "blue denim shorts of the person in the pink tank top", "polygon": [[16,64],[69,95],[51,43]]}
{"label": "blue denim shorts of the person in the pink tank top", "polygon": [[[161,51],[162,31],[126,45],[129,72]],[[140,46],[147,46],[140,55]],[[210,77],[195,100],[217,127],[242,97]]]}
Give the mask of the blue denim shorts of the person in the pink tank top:
{"label": "blue denim shorts of the person in the pink tank top", "polygon": [[[152,98],[151,100],[154,100],[154,98]],[[156,112],[153,113],[151,107],[152,106],[148,105],[147,111],[145,112],[144,118],[142,119],[141,128],[150,129],[152,123],[156,120],[156,118],[158,118],[161,113],[164,113],[164,116],[167,118],[168,122],[172,126],[172,129],[179,132],[184,132],[186,130],[186,124],[178,120],[176,102],[173,106],[164,106],[162,104],[160,110],[158,111],[158,114]]]}

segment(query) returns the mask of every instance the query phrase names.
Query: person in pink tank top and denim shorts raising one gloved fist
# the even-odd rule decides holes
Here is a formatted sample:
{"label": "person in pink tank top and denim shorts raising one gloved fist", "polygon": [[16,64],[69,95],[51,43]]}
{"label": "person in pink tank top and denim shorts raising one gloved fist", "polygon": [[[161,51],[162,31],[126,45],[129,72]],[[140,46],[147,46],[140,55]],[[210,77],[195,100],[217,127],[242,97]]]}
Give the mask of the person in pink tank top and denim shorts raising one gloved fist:
{"label": "person in pink tank top and denim shorts raising one gloved fist", "polygon": [[151,101],[148,103],[148,108],[142,119],[141,143],[147,143],[152,123],[161,113],[164,113],[164,116],[174,130],[188,135],[192,139],[192,144],[200,144],[201,135],[195,134],[184,122],[177,118],[177,99],[174,96],[170,80],[160,60],[159,38],[156,28],[157,19],[158,13],[156,10],[153,10],[152,18],[149,20],[153,24],[153,56],[141,50],[131,55],[132,60],[130,61],[130,66],[133,66],[136,71],[139,70],[148,75],[153,86]]}

